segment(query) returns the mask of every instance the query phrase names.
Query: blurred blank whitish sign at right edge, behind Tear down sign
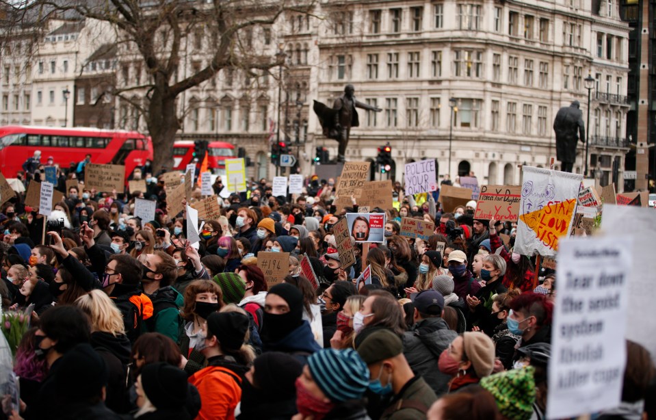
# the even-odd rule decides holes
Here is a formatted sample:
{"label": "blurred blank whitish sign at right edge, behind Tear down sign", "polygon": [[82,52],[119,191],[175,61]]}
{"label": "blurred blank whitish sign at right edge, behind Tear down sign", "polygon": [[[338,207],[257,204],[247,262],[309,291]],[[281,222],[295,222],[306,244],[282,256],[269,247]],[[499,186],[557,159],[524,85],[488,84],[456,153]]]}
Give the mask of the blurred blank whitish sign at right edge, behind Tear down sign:
{"label": "blurred blank whitish sign at right edge, behind Tear down sign", "polygon": [[632,270],[627,280],[631,304],[625,338],[644,345],[656,363],[656,334],[645,334],[646,331],[656,331],[656,318],[645,316],[653,313],[656,302],[656,287],[653,285],[653,273],[656,273],[656,211],[640,207],[604,205],[601,231],[633,237],[633,255],[627,261],[640,267],[640,270]]}

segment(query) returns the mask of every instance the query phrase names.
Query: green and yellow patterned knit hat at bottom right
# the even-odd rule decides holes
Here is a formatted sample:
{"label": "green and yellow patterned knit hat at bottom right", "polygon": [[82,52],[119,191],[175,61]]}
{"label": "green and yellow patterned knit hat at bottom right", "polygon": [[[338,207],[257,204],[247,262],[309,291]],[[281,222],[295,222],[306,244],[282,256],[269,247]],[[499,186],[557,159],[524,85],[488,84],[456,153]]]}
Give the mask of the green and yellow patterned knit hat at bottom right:
{"label": "green and yellow patterned knit hat at bottom right", "polygon": [[480,386],[490,391],[497,400],[503,417],[510,420],[528,420],[533,415],[536,386],[534,367],[511,369],[483,378]]}

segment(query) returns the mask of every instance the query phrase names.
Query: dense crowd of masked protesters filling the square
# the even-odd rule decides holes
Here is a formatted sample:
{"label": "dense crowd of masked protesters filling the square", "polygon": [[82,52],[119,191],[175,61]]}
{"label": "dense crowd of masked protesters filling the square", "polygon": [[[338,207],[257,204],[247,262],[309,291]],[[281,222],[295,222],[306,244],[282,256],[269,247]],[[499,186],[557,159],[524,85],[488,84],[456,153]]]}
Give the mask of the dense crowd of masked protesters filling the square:
{"label": "dense crowd of masked protesters filling the square", "polygon": [[[393,208],[371,209],[384,243],[365,255],[352,239],[342,267],[332,227],[357,200],[336,208],[332,179],[298,196],[261,179],[218,198],[195,247],[148,170],[131,175],[143,192],[64,187],[47,219],[18,194],[3,204],[3,310],[33,309],[5,417],[545,419],[557,281],[513,252],[514,224],[395,183]],[[157,201],[154,220],[134,216],[135,198]],[[401,236],[402,218],[434,235]],[[289,274],[267,281],[259,252],[289,252]],[[357,281],[367,266],[371,284]],[[626,345],[622,404],[596,419],[656,419],[652,358]]]}

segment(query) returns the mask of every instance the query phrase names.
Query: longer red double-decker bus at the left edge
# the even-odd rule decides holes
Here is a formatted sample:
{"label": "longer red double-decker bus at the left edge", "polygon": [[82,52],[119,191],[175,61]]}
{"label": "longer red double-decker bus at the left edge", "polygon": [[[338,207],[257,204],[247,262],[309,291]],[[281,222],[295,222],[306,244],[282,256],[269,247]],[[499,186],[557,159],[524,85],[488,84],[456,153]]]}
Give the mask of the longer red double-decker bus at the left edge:
{"label": "longer red double-decker bus at the left edge", "polygon": [[124,165],[125,176],[146,159],[153,159],[150,137],[134,131],[110,131],[88,128],[0,127],[0,168],[7,178],[16,177],[23,163],[41,151],[41,162],[52,156],[60,168],[83,161],[91,155],[92,163]]}

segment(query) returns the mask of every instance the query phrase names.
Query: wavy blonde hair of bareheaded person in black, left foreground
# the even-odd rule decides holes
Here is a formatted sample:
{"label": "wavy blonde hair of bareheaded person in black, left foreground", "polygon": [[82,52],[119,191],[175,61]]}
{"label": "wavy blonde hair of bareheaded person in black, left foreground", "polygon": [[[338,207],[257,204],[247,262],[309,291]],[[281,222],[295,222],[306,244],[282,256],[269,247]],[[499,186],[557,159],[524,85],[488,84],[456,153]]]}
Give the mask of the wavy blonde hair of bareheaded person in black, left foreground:
{"label": "wavy blonde hair of bareheaded person in black, left foreground", "polygon": [[89,315],[92,331],[109,332],[114,337],[125,334],[123,316],[107,293],[94,289],[77,298],[75,304]]}

